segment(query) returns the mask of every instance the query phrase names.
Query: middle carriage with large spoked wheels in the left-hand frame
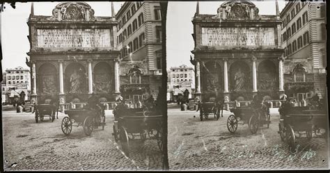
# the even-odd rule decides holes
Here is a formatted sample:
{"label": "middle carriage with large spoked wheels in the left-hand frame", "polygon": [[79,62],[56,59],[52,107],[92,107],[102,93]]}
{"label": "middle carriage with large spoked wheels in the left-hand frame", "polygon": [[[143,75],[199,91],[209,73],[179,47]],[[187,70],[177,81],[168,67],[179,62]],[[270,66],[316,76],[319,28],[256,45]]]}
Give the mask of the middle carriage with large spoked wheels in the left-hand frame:
{"label": "middle carriage with large spoked wheels in the left-hand frame", "polygon": [[97,126],[101,125],[102,130],[104,130],[104,108],[100,111],[95,109],[75,108],[65,110],[64,113],[68,115],[68,117],[63,118],[61,124],[62,131],[65,135],[71,133],[73,123],[77,123],[77,127],[82,125],[86,135],[91,135],[95,124]]}

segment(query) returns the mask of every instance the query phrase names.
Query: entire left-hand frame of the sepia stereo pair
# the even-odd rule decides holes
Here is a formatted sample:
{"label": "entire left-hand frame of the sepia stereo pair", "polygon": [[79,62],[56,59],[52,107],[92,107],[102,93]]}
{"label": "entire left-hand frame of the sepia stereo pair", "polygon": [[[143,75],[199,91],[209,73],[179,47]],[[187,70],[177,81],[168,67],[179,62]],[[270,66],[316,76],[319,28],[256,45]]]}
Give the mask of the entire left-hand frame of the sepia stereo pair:
{"label": "entire left-hand frame of the sepia stereo pair", "polygon": [[1,46],[4,171],[166,167],[159,2],[2,3]]}

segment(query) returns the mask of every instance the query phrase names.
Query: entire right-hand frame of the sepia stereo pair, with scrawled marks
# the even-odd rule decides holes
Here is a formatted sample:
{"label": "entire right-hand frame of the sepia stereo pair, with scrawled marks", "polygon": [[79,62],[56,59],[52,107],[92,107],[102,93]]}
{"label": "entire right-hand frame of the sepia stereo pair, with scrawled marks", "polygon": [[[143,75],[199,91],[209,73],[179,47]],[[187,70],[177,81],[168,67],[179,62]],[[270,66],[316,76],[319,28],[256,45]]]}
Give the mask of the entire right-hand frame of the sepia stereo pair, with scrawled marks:
{"label": "entire right-hand frame of the sepia stereo pair, with scrawled marks", "polygon": [[170,170],[328,170],[324,2],[168,2]]}

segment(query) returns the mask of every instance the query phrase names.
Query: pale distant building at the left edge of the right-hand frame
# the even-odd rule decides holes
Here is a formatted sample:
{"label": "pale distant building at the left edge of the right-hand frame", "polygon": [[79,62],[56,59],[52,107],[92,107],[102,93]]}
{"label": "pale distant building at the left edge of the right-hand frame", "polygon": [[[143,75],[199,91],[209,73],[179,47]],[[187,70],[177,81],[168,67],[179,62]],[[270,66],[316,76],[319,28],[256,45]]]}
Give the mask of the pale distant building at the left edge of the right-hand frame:
{"label": "pale distant building at the left edge of the right-hand frame", "polygon": [[189,91],[189,98],[194,94],[195,80],[194,68],[187,65],[171,67],[167,72],[168,88],[167,100],[178,99],[179,94]]}

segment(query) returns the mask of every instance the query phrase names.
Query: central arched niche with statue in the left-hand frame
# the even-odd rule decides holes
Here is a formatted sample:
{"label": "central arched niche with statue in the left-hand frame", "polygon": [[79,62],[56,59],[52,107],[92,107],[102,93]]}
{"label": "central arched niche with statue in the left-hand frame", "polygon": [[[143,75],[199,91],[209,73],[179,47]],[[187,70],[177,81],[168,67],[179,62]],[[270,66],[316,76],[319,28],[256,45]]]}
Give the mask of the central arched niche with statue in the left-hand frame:
{"label": "central arched niche with statue in the left-hand frame", "polygon": [[68,94],[81,94],[87,90],[87,74],[83,65],[71,63],[65,68],[65,92]]}

